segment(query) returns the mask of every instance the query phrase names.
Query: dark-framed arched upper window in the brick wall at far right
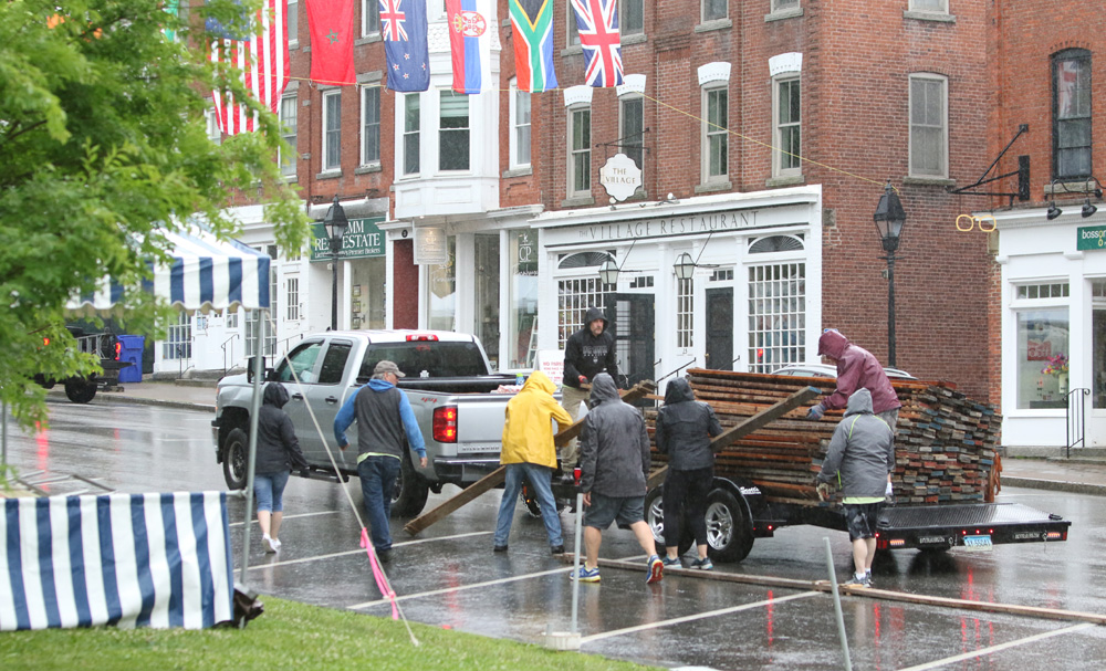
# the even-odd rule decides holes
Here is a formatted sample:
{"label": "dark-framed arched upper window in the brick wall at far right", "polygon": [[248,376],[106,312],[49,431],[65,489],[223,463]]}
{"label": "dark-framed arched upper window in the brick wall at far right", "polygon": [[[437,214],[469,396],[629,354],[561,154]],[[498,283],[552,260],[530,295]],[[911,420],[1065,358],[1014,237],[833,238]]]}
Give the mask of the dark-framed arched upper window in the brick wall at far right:
{"label": "dark-framed arched upper window in the brick wall at far right", "polygon": [[1053,177],[1091,176],[1091,52],[1053,56]]}

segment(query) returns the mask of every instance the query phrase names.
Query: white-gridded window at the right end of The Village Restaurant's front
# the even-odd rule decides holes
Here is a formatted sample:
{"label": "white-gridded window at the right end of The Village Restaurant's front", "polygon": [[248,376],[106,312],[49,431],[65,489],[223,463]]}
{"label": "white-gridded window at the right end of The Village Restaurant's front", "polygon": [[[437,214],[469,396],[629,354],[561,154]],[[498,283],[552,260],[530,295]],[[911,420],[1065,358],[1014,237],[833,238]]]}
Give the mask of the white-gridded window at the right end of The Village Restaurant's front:
{"label": "white-gridded window at the right end of The Village Restaurant's front", "polygon": [[749,371],[771,373],[806,352],[806,264],[749,268]]}

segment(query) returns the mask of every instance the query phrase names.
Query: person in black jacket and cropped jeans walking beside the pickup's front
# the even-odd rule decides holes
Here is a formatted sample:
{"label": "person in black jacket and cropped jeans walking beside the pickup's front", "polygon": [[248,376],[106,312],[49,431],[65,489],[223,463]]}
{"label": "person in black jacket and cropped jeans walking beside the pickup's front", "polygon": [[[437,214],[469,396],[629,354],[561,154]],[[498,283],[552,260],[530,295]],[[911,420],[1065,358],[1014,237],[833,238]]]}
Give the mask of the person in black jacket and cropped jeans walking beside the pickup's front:
{"label": "person in black jacket and cropped jeans walking beside the pickup's front", "polygon": [[258,412],[258,451],[253,460],[253,493],[258,496],[258,525],[265,552],[280,549],[280,523],[284,518],[284,485],[292,469],[307,468],[300,451],[292,419],[284,412],[288,389],[280,382],[265,386]]}

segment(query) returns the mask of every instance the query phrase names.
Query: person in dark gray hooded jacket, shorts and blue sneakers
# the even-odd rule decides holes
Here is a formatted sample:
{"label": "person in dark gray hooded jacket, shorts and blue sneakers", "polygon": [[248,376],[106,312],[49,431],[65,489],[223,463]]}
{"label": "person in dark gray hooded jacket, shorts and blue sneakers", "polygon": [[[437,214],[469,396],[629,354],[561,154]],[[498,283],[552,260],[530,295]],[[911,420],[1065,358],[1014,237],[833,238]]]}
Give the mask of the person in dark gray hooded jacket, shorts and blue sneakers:
{"label": "person in dark gray hooded jacket, shorts and blue sneakers", "polygon": [[618,397],[615,380],[601,373],[592,380],[592,408],[580,437],[580,491],[584,494],[584,547],[587,560],[573,577],[599,581],[603,530],[617,522],[629,528],[648,555],[646,583],[664,575],[653,531],[645,522],[646,481],[649,478],[649,433],[641,413]]}

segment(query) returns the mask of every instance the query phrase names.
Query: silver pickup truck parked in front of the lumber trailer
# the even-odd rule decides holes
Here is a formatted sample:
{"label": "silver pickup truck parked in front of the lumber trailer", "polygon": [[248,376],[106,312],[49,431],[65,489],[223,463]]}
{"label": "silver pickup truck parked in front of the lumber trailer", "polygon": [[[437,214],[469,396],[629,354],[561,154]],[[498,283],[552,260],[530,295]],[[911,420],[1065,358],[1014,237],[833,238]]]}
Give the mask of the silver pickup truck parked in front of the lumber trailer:
{"label": "silver pickup truck parked in front of the lumber trailer", "polygon": [[[517,378],[491,374],[480,340],[471,335],[333,331],[309,336],[265,373],[267,385],[284,385],[291,397],[284,410],[310,464],[299,475],[346,482],[357,474],[357,424],[347,432],[354,448],[343,452],[334,440],[334,417],[382,359],[406,374],[399,389],[407,394],[426,441],[427,466],[416,465],[408,450],[392,506],[395,515],[417,515],[429,491],[440,492],[447,483],[463,487],[499,465],[503,410],[512,395],[495,391]],[[219,381],[211,426],[216,461],[231,489],[246,485],[252,394],[247,375]]]}

